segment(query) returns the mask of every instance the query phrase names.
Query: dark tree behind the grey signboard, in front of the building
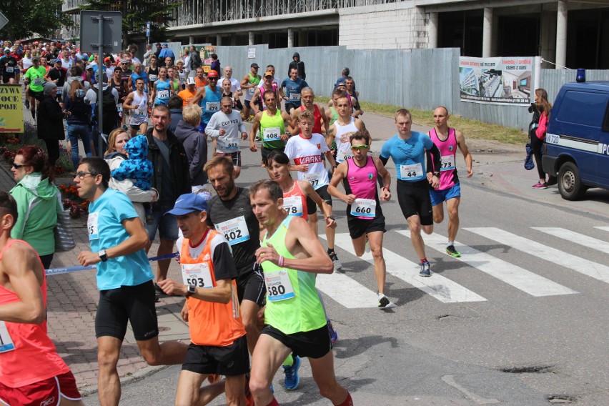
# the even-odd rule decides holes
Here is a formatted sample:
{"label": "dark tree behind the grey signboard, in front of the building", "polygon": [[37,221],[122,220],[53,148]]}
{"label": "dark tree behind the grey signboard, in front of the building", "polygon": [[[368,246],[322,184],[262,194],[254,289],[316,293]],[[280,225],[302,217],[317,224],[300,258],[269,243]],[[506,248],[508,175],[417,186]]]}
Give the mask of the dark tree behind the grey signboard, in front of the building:
{"label": "dark tree behind the grey signboard, in front of the building", "polygon": [[174,21],[173,11],[182,5],[180,0],[89,0],[83,10],[121,11],[123,14],[123,44],[130,44],[134,36],[141,36],[150,21],[150,40],[166,41],[167,24]]}

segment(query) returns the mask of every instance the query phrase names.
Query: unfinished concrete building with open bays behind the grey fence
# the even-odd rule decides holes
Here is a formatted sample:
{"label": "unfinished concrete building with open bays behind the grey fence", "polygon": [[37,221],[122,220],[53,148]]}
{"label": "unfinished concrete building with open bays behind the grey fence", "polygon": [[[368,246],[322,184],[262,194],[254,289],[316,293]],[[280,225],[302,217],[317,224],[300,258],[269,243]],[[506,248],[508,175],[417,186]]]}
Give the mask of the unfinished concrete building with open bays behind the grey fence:
{"label": "unfinished concrete building with open bays behind the grey fence", "polygon": [[[65,0],[64,11],[83,2]],[[184,0],[174,18],[169,32],[182,44],[458,47],[609,69],[607,0]]]}

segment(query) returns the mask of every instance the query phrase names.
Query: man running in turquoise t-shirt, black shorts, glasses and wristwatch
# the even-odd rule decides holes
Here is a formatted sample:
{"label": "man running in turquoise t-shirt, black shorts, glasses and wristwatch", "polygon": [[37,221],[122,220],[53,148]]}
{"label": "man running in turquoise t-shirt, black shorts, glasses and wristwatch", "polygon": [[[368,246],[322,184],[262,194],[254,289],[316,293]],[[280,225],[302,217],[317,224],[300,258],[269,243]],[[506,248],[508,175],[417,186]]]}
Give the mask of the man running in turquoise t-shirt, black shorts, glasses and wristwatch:
{"label": "man running in turquoise t-shirt, black shorts, glasses and wristwatch", "polygon": [[149,365],[182,363],[188,348],[177,341],[159,345],[152,269],[143,249],[148,236],[127,195],[108,189],[109,180],[110,169],[101,158],[83,158],[74,177],[79,197],[91,200],[87,220],[91,251],[81,252],[78,261],[84,267],[97,267],[97,385],[103,406],[119,404],[117,364],[128,321]]}

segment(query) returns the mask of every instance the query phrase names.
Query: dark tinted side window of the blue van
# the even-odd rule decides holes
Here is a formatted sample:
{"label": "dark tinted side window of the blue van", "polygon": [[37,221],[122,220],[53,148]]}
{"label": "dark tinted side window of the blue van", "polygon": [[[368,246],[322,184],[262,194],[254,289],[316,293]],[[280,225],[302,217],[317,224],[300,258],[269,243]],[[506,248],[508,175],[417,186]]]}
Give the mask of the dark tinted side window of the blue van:
{"label": "dark tinted side window of the blue van", "polygon": [[609,94],[567,91],[556,119],[559,122],[601,127],[608,101]]}

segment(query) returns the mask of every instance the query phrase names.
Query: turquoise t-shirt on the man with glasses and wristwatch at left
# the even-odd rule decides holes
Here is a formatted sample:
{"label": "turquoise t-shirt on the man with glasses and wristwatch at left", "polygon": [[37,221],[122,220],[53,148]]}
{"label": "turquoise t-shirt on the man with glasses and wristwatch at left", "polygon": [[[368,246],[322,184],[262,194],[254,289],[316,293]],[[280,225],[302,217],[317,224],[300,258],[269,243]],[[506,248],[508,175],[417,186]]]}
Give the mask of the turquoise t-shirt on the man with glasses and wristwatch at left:
{"label": "turquoise t-shirt on the man with glasses and wristwatch at left", "polygon": [[[123,227],[124,219],[138,219],[131,200],[126,194],[107,189],[95,202],[89,204],[89,219],[86,222],[91,252],[115,247],[129,238]],[[152,269],[144,249],[99,262],[97,267],[97,288],[117,289],[122,286],[136,286],[153,279]]]}

